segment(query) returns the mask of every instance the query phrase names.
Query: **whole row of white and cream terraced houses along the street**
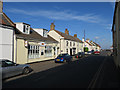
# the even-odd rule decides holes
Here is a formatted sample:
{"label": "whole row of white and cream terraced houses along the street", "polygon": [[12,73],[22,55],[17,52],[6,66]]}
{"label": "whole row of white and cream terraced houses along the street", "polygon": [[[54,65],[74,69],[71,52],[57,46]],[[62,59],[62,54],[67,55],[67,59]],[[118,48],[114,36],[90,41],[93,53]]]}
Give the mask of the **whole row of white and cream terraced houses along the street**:
{"label": "whole row of white and cream terraced houses along the street", "polygon": [[68,29],[60,32],[51,23],[50,30],[32,28],[24,22],[14,23],[3,12],[3,3],[0,2],[0,59],[9,59],[18,64],[55,59],[59,54],[75,55],[101,47],[89,39],[80,40],[77,34],[71,36]]}

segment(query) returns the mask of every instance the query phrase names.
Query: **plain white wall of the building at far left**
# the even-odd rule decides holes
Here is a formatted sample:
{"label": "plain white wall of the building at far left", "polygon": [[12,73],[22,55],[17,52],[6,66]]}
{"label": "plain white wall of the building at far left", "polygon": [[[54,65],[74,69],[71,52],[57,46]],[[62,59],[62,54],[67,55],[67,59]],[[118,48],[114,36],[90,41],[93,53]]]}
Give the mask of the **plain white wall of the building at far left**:
{"label": "plain white wall of the building at far left", "polygon": [[12,27],[0,27],[0,59],[13,61],[14,57],[14,30]]}

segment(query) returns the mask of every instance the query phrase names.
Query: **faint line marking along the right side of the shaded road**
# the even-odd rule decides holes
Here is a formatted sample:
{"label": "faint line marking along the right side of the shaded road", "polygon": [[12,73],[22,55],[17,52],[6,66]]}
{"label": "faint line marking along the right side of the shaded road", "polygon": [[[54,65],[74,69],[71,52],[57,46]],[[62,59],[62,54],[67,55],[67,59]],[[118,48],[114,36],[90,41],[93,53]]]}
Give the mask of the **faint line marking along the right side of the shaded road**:
{"label": "faint line marking along the right side of the shaded road", "polygon": [[102,64],[100,65],[98,71],[96,72],[96,74],[94,75],[92,81],[90,82],[90,84],[89,84],[89,86],[88,86],[88,89],[89,89],[89,88],[95,88],[95,84],[96,84],[96,82],[97,82],[97,80],[98,80],[98,78],[99,78],[100,72],[101,72],[101,70],[102,70],[102,68],[103,68],[103,65],[104,65],[104,63],[105,63],[106,60],[107,60],[107,59],[106,59],[106,57],[105,57],[104,61],[103,61]]}

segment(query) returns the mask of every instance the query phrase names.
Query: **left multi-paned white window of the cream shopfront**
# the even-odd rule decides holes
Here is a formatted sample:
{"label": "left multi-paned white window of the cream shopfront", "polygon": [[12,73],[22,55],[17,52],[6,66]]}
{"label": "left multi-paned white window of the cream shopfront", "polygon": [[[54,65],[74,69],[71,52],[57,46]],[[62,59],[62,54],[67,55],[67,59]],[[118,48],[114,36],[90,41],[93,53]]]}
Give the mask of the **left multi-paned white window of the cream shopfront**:
{"label": "left multi-paned white window of the cream shopfront", "polygon": [[28,45],[28,58],[33,59],[33,58],[39,58],[39,45]]}

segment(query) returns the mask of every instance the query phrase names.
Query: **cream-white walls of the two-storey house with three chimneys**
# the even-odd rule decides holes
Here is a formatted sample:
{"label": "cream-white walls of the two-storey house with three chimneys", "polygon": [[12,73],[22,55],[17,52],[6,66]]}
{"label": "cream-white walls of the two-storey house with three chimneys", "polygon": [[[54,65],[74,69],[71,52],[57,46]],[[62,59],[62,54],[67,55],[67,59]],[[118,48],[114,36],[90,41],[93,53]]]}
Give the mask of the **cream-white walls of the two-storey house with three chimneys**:
{"label": "cream-white walls of the two-storey house with three chimneys", "polygon": [[59,42],[57,45],[59,54],[68,53],[69,55],[74,55],[83,51],[83,43],[66,40],[54,30],[50,30],[48,34]]}

